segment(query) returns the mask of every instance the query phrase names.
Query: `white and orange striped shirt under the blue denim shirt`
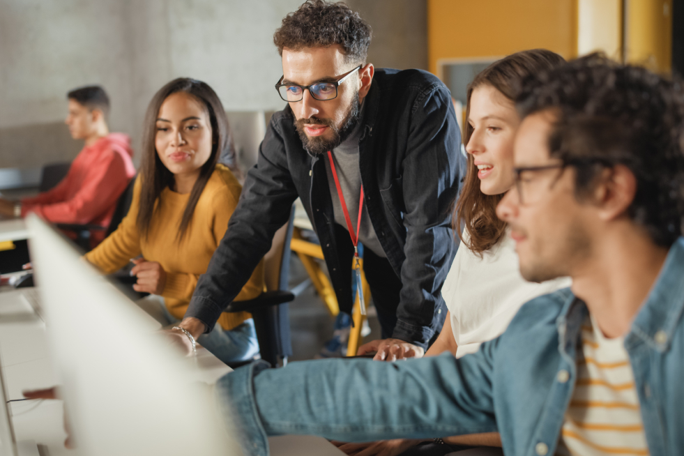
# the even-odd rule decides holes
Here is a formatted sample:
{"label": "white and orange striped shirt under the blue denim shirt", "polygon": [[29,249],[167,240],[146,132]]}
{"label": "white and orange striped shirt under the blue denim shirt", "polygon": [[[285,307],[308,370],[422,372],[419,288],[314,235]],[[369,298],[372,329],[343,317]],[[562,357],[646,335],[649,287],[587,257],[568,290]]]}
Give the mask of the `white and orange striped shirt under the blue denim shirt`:
{"label": "white and orange striped shirt under the blue denim shirt", "polygon": [[582,325],[577,383],[557,455],[648,455],[639,397],[623,337],[607,339],[593,318]]}

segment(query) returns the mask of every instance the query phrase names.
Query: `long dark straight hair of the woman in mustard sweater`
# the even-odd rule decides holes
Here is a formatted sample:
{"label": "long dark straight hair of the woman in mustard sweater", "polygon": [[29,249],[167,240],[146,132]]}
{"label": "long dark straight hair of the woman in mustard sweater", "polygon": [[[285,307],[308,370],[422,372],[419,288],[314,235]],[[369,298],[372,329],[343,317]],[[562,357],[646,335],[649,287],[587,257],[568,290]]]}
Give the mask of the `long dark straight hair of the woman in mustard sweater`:
{"label": "long dark straight hair of the woman in mustard sweater", "polygon": [[221,162],[231,169],[238,178],[240,172],[236,164],[235,148],[231,141],[226,112],[223,109],[221,100],[218,98],[218,95],[216,95],[216,92],[213,91],[208,84],[197,81],[197,79],[179,77],[178,79],[169,82],[155,93],[145,114],[145,128],[142,142],[142,167],[140,171],[142,188],[140,190],[140,208],[137,217],[138,229],[142,235],[145,238],[149,235],[150,224],[154,213],[158,208],[155,203],[162,194],[162,190],[167,187],[174,188],[174,185],[176,184],[174,174],[164,166],[155,147],[159,109],[162,106],[162,103],[172,93],[176,92],[188,93],[188,95],[204,105],[211,123],[213,143],[211,155],[199,171],[199,178],[197,178],[197,182],[195,182],[195,185],[190,191],[188,204],[185,206],[183,218],[181,218],[181,222],[178,225],[176,239],[180,243],[183,240],[183,236],[185,236],[185,231],[188,230],[188,225],[190,224],[190,220],[192,220],[192,214],[195,212],[195,206],[197,206],[199,197],[204,191],[204,186],[214,172],[216,165]]}

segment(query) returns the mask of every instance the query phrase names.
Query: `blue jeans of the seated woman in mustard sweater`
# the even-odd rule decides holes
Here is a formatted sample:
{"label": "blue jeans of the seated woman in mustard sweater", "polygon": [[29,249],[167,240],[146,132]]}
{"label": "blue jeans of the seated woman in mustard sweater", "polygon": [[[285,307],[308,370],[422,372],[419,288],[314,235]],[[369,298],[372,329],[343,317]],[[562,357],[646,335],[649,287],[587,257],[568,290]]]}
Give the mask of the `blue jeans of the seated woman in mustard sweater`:
{"label": "blue jeans of the seated woman in mustard sweater", "polygon": [[[164,298],[154,298],[160,301],[162,315],[167,324],[180,323],[181,320],[169,314],[164,305]],[[254,320],[251,318],[231,330],[225,330],[219,324],[215,324],[211,331],[197,338],[197,343],[226,364],[250,360],[259,353],[257,331],[254,330]]]}

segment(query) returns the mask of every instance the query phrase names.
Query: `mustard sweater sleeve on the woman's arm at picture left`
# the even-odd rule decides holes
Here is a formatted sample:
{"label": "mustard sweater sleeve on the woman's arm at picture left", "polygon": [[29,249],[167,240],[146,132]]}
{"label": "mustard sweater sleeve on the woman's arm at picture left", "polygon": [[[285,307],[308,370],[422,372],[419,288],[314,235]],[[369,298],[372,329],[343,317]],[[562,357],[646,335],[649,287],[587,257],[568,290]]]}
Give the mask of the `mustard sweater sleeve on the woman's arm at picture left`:
{"label": "mustard sweater sleeve on the woman's arm at picture left", "polygon": [[137,178],[130,209],[119,228],[86,253],[86,259],[106,274],[119,271],[130,259],[140,254],[140,233],[136,222],[140,207],[140,187],[140,178]]}

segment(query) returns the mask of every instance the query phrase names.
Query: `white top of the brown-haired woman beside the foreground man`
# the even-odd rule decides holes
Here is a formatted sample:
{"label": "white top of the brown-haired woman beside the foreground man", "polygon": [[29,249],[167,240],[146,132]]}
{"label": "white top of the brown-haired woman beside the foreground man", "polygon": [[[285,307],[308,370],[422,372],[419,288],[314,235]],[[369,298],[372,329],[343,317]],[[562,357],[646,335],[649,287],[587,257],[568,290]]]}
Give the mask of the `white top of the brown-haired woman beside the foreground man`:
{"label": "white top of the brown-haired woman beside the foreground man", "polygon": [[[468,238],[467,230],[464,238]],[[482,258],[461,243],[442,287],[458,345],[456,358],[478,351],[482,342],[501,335],[527,301],[571,283],[570,278],[540,284],[524,280],[508,231]]]}

